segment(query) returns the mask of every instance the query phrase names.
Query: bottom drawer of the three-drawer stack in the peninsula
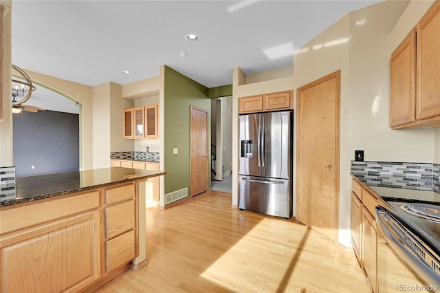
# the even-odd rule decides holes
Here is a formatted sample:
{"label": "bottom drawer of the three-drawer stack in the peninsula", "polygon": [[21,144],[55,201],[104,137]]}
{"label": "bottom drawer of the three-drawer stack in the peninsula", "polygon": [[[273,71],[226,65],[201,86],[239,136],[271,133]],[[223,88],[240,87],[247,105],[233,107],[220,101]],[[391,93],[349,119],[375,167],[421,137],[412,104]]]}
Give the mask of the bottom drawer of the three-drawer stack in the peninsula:
{"label": "bottom drawer of the three-drawer stack in the peninsula", "polygon": [[130,230],[105,243],[107,272],[133,260],[135,255],[135,230]]}

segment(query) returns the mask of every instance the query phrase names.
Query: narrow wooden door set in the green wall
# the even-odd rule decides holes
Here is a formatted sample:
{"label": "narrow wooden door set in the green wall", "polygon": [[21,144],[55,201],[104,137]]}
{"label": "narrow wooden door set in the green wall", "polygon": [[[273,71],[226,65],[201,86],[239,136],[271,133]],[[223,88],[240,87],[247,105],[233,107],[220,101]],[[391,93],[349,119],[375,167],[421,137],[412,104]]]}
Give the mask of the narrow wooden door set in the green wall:
{"label": "narrow wooden door set in the green wall", "polygon": [[190,107],[190,194],[191,197],[208,191],[208,111]]}

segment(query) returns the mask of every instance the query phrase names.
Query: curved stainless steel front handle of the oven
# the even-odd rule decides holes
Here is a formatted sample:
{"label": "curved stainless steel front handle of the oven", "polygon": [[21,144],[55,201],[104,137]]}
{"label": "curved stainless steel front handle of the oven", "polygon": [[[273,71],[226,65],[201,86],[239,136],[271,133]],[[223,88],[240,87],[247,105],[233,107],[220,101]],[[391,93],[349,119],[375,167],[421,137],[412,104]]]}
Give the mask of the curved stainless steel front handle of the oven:
{"label": "curved stainless steel front handle of the oven", "polygon": [[[438,264],[438,260],[432,256],[432,254],[426,249],[423,248],[423,245],[413,237],[410,232],[402,226],[399,221],[394,219],[391,215],[388,215],[384,211],[383,208],[380,208],[379,206],[376,207],[375,210],[376,214],[376,221],[377,226],[379,230],[382,232],[382,235],[386,238],[386,241],[390,244],[391,248],[395,250],[399,255],[404,257],[405,261],[407,261],[413,268],[417,268],[421,275],[425,276],[429,281],[432,282],[432,285],[437,285],[437,287],[440,287],[440,272],[435,272],[435,268],[432,268],[432,266],[428,265],[427,263],[427,257],[428,259],[434,261],[434,263]],[[399,232],[404,233],[406,237],[408,237],[407,241],[411,241],[415,246],[423,250],[423,253],[426,255],[425,259],[422,259],[418,254],[416,254],[410,246],[401,239],[401,237],[395,232],[393,229],[393,226],[396,226],[397,229],[399,229]],[[437,270],[439,268],[437,267]]]}

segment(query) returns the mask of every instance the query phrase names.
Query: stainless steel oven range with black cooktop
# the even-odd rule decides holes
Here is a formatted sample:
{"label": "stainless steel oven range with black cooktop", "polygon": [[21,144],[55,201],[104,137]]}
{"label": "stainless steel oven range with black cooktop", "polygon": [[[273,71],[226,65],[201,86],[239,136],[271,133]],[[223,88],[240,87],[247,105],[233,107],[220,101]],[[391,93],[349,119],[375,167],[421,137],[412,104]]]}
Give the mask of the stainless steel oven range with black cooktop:
{"label": "stainless steel oven range with black cooktop", "polygon": [[375,214],[378,291],[440,292],[440,203],[381,197]]}

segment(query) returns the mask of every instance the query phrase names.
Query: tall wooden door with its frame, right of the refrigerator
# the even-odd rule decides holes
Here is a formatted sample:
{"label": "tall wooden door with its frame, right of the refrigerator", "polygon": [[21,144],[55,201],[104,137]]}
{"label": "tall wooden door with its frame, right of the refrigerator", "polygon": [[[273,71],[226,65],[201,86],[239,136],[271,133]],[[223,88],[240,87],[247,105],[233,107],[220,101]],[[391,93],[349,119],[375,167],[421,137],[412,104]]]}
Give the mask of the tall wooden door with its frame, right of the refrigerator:
{"label": "tall wooden door with its frame, right of the refrigerator", "polygon": [[297,89],[296,109],[297,219],[337,243],[340,71]]}

